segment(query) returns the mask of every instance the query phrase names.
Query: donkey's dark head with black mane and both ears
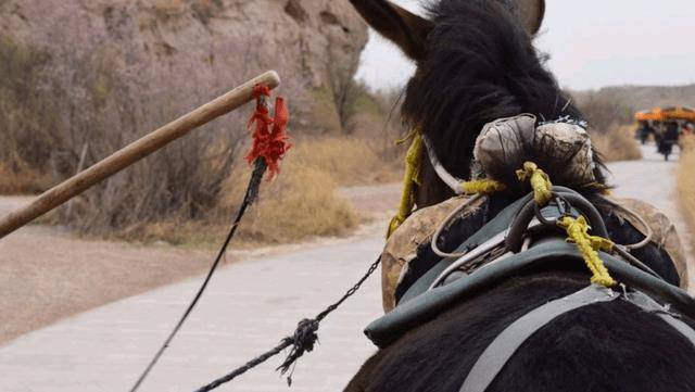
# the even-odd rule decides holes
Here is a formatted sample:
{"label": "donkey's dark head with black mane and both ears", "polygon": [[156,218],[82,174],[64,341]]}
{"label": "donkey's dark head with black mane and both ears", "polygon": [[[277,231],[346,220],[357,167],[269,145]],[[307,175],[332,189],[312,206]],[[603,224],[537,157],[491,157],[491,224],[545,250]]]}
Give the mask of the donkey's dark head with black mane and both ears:
{"label": "donkey's dark head with black mane and both ears", "polygon": [[[470,177],[475,140],[486,123],[521,113],[580,117],[532,45],[544,0],[434,0],[428,18],[388,0],[350,1],[416,63],[403,119],[428,136],[457,177]],[[422,176],[419,206],[453,194],[429,164]]]}

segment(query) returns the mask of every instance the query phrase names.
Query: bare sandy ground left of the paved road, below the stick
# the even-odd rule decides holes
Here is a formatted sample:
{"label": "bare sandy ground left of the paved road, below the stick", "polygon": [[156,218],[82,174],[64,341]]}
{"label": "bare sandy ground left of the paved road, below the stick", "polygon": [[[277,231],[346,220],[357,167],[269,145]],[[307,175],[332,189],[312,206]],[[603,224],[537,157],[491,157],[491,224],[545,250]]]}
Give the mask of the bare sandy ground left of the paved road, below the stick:
{"label": "bare sandy ground left of the paved road, below the stick", "polygon": [[[3,206],[10,204],[3,199]],[[200,274],[210,258],[210,252],[88,241],[49,227],[24,228],[0,240],[0,344],[60,318]]]}

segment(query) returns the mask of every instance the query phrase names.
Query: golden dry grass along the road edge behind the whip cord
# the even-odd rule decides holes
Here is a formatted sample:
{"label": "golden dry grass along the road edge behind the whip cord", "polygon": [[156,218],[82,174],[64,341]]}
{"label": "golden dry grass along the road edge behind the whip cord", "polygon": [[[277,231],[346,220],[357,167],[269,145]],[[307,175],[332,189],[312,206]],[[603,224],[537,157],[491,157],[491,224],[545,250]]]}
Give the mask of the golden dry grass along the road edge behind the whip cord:
{"label": "golden dry grass along the road edge behind the whip cord", "polygon": [[[400,179],[400,166],[396,160],[382,159],[363,138],[296,140],[279,176],[262,184],[260,200],[249,210],[239,239],[244,244],[288,243],[348,235],[363,217],[338,195],[338,187],[395,181]],[[204,217],[174,215],[130,225],[109,237],[197,248],[216,245],[243,199],[250,174],[245,163],[237,164],[222,186],[217,206]]]}

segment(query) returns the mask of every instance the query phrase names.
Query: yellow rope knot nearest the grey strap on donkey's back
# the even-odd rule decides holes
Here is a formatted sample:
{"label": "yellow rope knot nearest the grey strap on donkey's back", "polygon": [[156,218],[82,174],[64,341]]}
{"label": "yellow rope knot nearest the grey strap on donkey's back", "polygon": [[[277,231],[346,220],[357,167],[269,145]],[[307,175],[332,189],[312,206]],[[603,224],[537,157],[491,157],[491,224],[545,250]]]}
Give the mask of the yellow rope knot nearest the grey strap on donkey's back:
{"label": "yellow rope knot nearest the grey strap on donkey's back", "polygon": [[567,231],[567,241],[573,242],[582,254],[586,266],[593,274],[591,282],[605,287],[614,287],[617,282],[612,279],[604,262],[598,257],[597,251],[611,252],[614,242],[598,236],[589,235],[589,224],[583,216],[574,219],[566,216],[558,225]]}

